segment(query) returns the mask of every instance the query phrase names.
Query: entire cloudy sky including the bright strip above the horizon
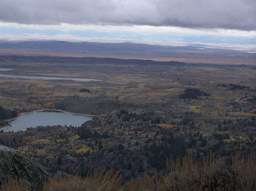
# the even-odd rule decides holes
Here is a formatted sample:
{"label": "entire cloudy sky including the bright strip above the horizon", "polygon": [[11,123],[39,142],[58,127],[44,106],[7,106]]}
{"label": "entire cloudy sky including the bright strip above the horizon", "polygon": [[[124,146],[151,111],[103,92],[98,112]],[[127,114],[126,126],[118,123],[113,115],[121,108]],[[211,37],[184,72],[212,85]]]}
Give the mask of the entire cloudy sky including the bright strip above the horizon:
{"label": "entire cloudy sky including the bright strip above the horizon", "polygon": [[0,0],[2,38],[19,34],[81,36],[74,32],[81,30],[87,31],[83,37],[92,33],[89,30],[97,31],[95,38],[105,38],[110,32],[107,38],[122,39],[130,32],[134,40],[137,35],[154,40],[157,33],[165,32],[169,36],[164,40],[172,40],[170,33],[176,35],[174,40],[182,40],[177,33],[255,40],[256,0]]}

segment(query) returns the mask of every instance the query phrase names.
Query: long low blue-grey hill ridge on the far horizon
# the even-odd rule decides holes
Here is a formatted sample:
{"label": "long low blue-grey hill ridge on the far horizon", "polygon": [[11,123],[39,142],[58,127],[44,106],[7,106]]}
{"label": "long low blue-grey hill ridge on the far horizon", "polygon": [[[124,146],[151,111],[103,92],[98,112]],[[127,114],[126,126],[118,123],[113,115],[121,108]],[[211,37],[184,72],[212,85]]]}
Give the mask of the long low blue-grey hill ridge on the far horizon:
{"label": "long low blue-grey hill ridge on the far horizon", "polygon": [[200,49],[199,46],[163,46],[152,44],[137,44],[132,42],[105,43],[105,42],[66,42],[66,41],[24,41],[0,42],[0,48],[6,49],[35,49],[55,51],[88,51],[88,52],[134,52],[134,51],[171,51],[173,49]]}

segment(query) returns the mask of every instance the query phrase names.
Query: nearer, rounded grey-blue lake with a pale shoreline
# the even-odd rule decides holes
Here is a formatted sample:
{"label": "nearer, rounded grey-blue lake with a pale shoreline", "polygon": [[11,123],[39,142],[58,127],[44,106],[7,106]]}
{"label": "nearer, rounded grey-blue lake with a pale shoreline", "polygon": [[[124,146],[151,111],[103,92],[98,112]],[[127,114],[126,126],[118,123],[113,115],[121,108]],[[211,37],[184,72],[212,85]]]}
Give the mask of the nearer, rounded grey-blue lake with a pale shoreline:
{"label": "nearer, rounded grey-blue lake with a pale shoreline", "polygon": [[26,131],[29,127],[70,125],[79,127],[84,122],[92,120],[93,116],[76,115],[66,112],[37,111],[35,113],[24,113],[19,118],[9,121],[12,127],[7,127],[3,131]]}

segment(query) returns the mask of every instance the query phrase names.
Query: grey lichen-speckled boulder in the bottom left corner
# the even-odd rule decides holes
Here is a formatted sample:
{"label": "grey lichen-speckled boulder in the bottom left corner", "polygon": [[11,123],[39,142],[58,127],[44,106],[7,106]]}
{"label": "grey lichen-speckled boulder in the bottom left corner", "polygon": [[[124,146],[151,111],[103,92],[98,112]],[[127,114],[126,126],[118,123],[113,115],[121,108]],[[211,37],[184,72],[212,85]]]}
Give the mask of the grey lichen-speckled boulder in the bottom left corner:
{"label": "grey lichen-speckled boulder in the bottom left corner", "polygon": [[27,155],[0,144],[0,189],[9,177],[22,179],[30,189],[41,190],[49,175]]}

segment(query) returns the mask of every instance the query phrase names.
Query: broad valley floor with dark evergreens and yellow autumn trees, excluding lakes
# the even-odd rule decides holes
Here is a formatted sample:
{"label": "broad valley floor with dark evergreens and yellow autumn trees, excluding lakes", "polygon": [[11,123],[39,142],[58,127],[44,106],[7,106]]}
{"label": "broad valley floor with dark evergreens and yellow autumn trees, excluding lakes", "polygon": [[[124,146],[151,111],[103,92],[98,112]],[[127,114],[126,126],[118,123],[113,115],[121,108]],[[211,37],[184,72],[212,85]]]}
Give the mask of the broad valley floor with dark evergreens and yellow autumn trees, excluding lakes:
{"label": "broad valley floor with dark evergreens and yellow autumn trees, excluding lakes", "polygon": [[100,81],[0,78],[2,127],[20,113],[39,109],[96,115],[78,128],[0,132],[0,143],[29,155],[51,175],[85,177],[106,167],[119,170],[125,182],[158,175],[171,156],[201,160],[214,152],[224,161],[231,154],[255,154],[256,68],[247,61],[3,53],[0,68],[12,70],[0,74]]}

